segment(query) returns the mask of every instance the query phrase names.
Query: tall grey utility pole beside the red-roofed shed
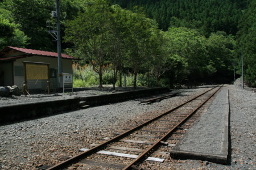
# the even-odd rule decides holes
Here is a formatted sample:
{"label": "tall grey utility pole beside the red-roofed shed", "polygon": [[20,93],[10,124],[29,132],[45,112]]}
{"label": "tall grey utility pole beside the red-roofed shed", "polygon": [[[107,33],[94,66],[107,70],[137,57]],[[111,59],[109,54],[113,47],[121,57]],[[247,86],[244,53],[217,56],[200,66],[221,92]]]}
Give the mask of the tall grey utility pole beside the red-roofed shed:
{"label": "tall grey utility pole beside the red-roofed shed", "polygon": [[62,80],[61,39],[60,39],[60,0],[56,0],[56,15],[57,15],[57,52],[58,52],[59,87],[62,87],[63,80]]}

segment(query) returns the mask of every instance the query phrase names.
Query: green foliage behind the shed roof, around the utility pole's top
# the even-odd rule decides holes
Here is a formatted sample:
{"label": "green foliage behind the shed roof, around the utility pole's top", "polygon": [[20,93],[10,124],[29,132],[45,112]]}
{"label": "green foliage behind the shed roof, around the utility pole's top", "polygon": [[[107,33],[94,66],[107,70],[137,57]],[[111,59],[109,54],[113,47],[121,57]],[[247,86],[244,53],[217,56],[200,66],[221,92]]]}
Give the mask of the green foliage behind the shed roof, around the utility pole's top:
{"label": "green foliage behind the shed roof, around the utility pole's top", "polygon": [[[65,22],[77,15],[86,1],[61,0],[61,34]],[[46,22],[52,21],[51,11],[55,11],[55,1],[47,0],[2,0],[0,1],[1,35],[0,49],[6,45],[31,49],[56,51],[56,42],[52,41],[46,29]],[[7,26],[7,25],[8,26]],[[4,27],[4,28],[3,28]],[[2,32],[13,29],[13,33]],[[56,29],[56,25],[55,28]],[[9,39],[12,36],[13,40]],[[8,42],[7,42],[8,41]],[[63,44],[64,48],[67,44]]]}

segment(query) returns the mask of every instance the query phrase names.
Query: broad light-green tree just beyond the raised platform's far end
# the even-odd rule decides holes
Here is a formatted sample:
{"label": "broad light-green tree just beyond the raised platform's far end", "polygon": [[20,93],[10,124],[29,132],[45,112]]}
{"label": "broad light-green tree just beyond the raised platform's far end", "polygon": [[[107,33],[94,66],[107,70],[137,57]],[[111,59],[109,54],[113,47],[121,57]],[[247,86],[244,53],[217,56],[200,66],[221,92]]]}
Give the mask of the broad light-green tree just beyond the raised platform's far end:
{"label": "broad light-green tree just beyond the raised platform's far end", "polygon": [[174,65],[184,68],[184,82],[195,83],[203,77],[207,64],[206,39],[199,32],[188,28],[170,28],[166,32],[168,54]]}

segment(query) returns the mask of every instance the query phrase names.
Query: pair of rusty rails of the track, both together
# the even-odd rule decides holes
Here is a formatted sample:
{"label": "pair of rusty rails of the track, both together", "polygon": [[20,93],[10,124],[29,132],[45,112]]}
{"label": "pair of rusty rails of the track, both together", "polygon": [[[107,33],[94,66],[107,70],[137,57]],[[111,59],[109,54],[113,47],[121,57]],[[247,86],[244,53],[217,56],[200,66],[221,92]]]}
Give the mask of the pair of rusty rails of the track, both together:
{"label": "pair of rusty rails of the track, both together", "polygon": [[[63,168],[68,167],[68,166],[71,165],[71,164],[75,164],[75,163],[79,162],[81,159],[84,159],[84,158],[86,158],[87,156],[90,156],[90,155],[96,153],[97,151],[102,150],[103,148],[105,148],[105,147],[106,147],[107,145],[109,145],[110,143],[112,143],[112,142],[117,142],[119,139],[122,139],[122,138],[127,137],[127,135],[133,133],[134,131],[136,131],[136,130],[138,130],[138,129],[141,129],[143,126],[146,126],[147,124],[150,124],[151,122],[153,122],[153,121],[155,121],[155,120],[158,120],[160,117],[163,117],[164,115],[166,115],[166,114],[168,114],[168,113],[170,113],[170,112],[172,112],[172,111],[175,111],[176,109],[180,108],[181,106],[183,106],[183,105],[189,103],[189,102],[192,101],[192,100],[197,99],[198,97],[200,97],[200,96],[206,94],[207,92],[209,92],[209,91],[211,91],[211,90],[213,90],[214,88],[217,88],[217,87],[218,87],[218,86],[213,87],[213,88],[211,88],[210,90],[205,91],[205,92],[203,92],[202,94],[197,95],[196,97],[193,97],[193,99],[188,100],[188,101],[185,101],[184,103],[178,105],[177,107],[175,107],[175,108],[173,108],[173,109],[170,109],[169,111],[167,111],[167,112],[165,112],[165,113],[162,113],[162,114],[160,114],[159,116],[156,116],[156,117],[152,118],[151,120],[148,120],[148,121],[144,122],[143,124],[136,126],[135,128],[132,128],[132,129],[130,129],[130,130],[125,131],[125,132],[122,133],[122,134],[117,135],[117,137],[114,137],[114,138],[112,138],[112,139],[109,139],[108,141],[103,142],[103,143],[101,143],[100,145],[95,146],[95,147],[93,147],[93,148],[90,148],[89,150],[86,150],[86,151],[82,152],[82,153],[79,154],[79,155],[73,156],[72,158],[69,158],[69,159],[65,160],[64,162],[61,162],[61,163],[56,164],[56,165],[53,165],[53,167],[50,167],[50,168],[48,168],[47,170],[63,169]],[[222,86],[221,86],[221,87],[222,87]],[[221,88],[221,87],[220,87],[220,88]],[[220,90],[220,88],[219,88],[218,90]],[[217,91],[218,91],[218,90],[217,90]],[[216,92],[217,92],[217,91],[216,91]],[[214,94],[215,94],[216,92],[214,92]],[[212,94],[210,97],[212,97],[214,94]],[[210,97],[209,97],[207,100],[205,100],[204,103],[206,103],[206,102],[210,99]],[[202,104],[202,105],[203,105],[203,104]],[[197,107],[197,108],[195,109],[195,111],[193,111],[193,113],[195,113],[200,107],[201,107],[201,105],[200,105],[199,107]],[[160,141],[163,141],[163,139],[165,139],[170,133],[172,133],[172,131],[174,131],[174,130],[177,128],[177,126],[181,125],[185,120],[187,120],[189,117],[191,117],[193,113],[191,113],[191,114],[189,114],[189,116],[185,117],[178,125],[176,125],[174,128],[172,128],[172,129],[171,129],[166,135],[164,135],[158,142],[156,142],[153,146],[151,146],[150,148],[148,148],[148,150],[145,151],[145,152],[143,152],[143,154],[139,155],[137,159],[135,159],[131,164],[127,165],[127,167],[125,167],[124,169],[131,169],[131,168],[134,166],[134,164],[136,164],[136,163],[138,163],[138,162],[141,162],[143,159],[147,158],[148,153],[153,152],[153,151],[157,148],[157,146],[159,146]]]}

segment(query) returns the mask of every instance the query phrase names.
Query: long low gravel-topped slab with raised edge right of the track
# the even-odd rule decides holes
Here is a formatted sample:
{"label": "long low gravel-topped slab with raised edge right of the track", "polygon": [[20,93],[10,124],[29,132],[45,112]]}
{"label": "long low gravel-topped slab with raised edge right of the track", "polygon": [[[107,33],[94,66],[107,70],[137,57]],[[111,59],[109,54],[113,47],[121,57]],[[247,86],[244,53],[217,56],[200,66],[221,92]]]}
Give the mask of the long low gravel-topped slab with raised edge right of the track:
{"label": "long low gravel-topped slab with raised edge right of the track", "polygon": [[174,159],[208,160],[228,164],[229,97],[222,88],[200,120],[171,150]]}

